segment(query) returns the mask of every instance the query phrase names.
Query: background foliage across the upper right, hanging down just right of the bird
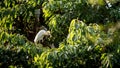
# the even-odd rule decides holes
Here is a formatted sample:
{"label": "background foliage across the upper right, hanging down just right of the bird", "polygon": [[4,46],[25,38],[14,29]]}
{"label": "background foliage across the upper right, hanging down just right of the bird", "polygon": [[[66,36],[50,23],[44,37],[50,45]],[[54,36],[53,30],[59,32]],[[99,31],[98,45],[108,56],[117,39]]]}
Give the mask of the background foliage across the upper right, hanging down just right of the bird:
{"label": "background foliage across the upper right, hanging down just right of the bird", "polygon": [[[109,2],[109,3],[107,3]],[[110,23],[120,18],[119,7],[114,6],[115,0],[50,0],[43,3],[43,13],[46,24],[52,31],[54,42],[63,41],[68,34],[72,19],[89,23]],[[108,4],[111,7],[108,7]],[[114,8],[115,7],[115,8]],[[58,38],[60,37],[60,38]]]}

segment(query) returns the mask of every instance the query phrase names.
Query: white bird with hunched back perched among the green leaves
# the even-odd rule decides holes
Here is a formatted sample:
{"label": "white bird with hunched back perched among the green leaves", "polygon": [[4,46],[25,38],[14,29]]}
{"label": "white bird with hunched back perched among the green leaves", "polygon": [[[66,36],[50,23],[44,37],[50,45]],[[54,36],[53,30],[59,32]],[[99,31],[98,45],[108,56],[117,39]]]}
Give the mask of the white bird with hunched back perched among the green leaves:
{"label": "white bird with hunched back perched among the green leaves", "polygon": [[43,41],[44,36],[51,36],[50,31],[40,30],[35,36],[34,43],[37,43],[38,41]]}

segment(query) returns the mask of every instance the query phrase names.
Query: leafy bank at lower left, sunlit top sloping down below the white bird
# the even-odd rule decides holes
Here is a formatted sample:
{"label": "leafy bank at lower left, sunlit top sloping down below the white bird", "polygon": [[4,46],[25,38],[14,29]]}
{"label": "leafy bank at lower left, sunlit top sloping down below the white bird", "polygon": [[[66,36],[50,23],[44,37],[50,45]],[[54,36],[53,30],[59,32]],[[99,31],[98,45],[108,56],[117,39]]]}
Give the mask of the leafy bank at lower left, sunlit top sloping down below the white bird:
{"label": "leafy bank at lower left, sunlit top sloping down below the white bird", "polygon": [[0,32],[0,67],[35,67],[33,58],[46,48],[35,46],[25,36]]}

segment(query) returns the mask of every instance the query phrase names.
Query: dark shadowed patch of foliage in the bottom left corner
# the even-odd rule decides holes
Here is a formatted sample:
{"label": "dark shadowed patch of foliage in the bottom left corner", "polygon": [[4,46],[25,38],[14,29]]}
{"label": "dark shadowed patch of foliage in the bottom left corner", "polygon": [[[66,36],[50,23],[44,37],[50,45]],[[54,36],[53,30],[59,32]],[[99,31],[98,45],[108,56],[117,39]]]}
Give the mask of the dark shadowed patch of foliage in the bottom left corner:
{"label": "dark shadowed patch of foliage in the bottom left corner", "polygon": [[0,55],[1,68],[8,68],[10,65],[25,68],[33,66],[32,57],[27,52],[24,52],[23,49],[15,52],[0,48]]}

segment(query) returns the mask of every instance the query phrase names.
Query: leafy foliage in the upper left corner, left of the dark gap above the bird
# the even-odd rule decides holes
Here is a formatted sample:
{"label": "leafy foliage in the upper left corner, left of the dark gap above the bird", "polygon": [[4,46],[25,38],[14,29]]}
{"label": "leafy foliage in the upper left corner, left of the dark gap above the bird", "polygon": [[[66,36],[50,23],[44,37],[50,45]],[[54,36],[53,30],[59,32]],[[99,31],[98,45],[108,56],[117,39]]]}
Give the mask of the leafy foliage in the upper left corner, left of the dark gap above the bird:
{"label": "leafy foliage in the upper left corner, left of the dark gap above the bird", "polygon": [[[4,0],[0,4],[0,29],[9,33],[25,36],[34,34],[37,27],[35,10],[39,9],[40,0]],[[37,23],[40,24],[40,23]],[[33,39],[33,36],[32,36]]]}

